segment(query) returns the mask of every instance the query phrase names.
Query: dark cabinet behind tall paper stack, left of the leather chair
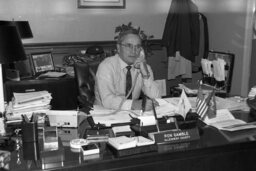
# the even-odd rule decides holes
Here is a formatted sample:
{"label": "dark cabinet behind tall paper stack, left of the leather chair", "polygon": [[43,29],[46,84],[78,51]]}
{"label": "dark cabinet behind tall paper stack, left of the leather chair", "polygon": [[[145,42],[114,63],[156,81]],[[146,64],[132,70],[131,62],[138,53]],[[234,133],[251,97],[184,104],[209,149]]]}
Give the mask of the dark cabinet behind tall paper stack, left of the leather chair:
{"label": "dark cabinet behind tall paper stack, left of the leather chair", "polygon": [[51,105],[53,110],[67,110],[77,108],[78,89],[72,77],[57,79],[30,79],[5,82],[6,100],[10,101],[13,92],[47,90],[52,94]]}

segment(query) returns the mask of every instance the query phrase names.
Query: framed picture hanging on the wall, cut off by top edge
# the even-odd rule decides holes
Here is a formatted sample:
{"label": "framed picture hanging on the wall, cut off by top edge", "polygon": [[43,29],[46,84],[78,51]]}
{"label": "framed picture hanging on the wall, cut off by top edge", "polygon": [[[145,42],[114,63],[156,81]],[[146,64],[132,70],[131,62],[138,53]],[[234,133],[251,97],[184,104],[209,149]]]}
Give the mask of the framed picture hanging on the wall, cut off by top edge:
{"label": "framed picture hanging on the wall, cut off by top edge", "polygon": [[78,8],[125,8],[125,0],[78,0]]}

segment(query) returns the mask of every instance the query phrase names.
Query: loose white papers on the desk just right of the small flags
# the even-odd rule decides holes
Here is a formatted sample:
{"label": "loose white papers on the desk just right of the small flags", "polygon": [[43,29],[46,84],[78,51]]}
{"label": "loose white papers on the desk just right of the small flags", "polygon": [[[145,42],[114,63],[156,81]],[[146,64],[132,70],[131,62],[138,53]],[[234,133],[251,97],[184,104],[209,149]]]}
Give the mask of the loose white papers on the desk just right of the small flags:
{"label": "loose white papers on the desk just right of the small flags", "polygon": [[256,123],[246,123],[243,120],[235,119],[234,116],[227,109],[217,110],[216,117],[214,118],[206,118],[204,122],[207,125],[214,126],[220,130],[226,131],[238,131],[244,129],[255,129]]}

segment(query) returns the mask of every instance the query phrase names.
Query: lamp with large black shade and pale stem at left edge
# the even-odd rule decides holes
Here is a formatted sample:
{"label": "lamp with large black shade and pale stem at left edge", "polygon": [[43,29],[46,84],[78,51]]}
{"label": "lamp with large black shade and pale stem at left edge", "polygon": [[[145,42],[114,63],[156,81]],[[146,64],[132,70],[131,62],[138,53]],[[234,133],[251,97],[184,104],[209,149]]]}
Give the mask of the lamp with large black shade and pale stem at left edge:
{"label": "lamp with large black shade and pale stem at left edge", "polygon": [[16,26],[0,25],[0,112],[4,112],[2,64],[25,59],[26,54]]}

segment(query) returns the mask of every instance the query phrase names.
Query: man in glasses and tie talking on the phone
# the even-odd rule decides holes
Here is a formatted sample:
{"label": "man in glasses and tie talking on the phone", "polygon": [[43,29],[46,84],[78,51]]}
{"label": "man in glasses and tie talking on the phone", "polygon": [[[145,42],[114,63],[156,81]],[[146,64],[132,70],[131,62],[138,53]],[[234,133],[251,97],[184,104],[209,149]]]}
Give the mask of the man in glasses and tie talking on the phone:
{"label": "man in glasses and tie talking on the phone", "polygon": [[[141,91],[150,98],[160,97],[141,43],[140,31],[137,29],[131,27],[119,33],[117,54],[106,58],[98,67],[95,104],[110,109],[141,110]],[[131,93],[129,90],[132,90]],[[145,110],[151,109],[152,102],[146,100]]]}

